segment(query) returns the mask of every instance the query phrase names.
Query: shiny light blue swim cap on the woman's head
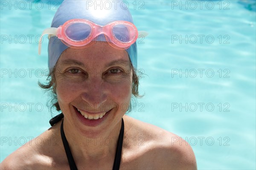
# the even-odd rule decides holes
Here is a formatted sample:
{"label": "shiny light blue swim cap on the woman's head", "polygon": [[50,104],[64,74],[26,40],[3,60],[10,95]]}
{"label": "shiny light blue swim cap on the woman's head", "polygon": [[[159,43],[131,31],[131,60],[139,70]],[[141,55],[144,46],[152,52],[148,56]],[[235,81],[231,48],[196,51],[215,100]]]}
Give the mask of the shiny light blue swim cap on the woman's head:
{"label": "shiny light blue swim cap on the woman's head", "polygon": [[[122,1],[64,0],[55,13],[51,27],[58,28],[71,19],[90,20],[101,26],[116,20],[133,23],[130,11]],[[101,38],[96,38],[96,41],[106,41],[104,36],[99,36]],[[50,37],[48,44],[48,67],[50,70],[55,66],[58,58],[67,48],[69,47],[58,39],[58,37]],[[125,51],[128,52],[134,68],[137,68],[136,42]]]}

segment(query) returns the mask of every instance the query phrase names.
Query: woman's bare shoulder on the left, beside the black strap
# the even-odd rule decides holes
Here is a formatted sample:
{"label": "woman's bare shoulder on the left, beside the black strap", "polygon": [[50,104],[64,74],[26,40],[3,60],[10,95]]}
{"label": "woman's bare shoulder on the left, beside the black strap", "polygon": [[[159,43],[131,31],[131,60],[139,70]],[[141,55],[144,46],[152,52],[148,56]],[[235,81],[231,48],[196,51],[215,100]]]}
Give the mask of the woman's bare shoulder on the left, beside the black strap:
{"label": "woman's bare shoulder on the left, beside the black strap", "polygon": [[[1,162],[1,170],[35,170],[55,167],[56,155],[61,153],[61,139],[56,133],[58,125],[19,147]],[[62,153],[61,153],[62,154]],[[58,158],[58,156],[57,156]]]}

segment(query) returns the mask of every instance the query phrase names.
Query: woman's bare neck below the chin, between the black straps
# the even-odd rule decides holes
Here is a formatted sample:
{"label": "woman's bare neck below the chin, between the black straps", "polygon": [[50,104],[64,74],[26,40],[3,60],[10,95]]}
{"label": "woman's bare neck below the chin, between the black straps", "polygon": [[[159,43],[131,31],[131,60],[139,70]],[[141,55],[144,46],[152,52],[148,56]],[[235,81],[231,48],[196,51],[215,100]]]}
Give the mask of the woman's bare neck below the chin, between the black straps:
{"label": "woman's bare neck below the chin, between the black straps", "polygon": [[112,127],[102,127],[100,130],[90,130],[95,127],[78,130],[70,123],[64,120],[63,128],[75,160],[79,158],[93,161],[115,156],[122,120]]}

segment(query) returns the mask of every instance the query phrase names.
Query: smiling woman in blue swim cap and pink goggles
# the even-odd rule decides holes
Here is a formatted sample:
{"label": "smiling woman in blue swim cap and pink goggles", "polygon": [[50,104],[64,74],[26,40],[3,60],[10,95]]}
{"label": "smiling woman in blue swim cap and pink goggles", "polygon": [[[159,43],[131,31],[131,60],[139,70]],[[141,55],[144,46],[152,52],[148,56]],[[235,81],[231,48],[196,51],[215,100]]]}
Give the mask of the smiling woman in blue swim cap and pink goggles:
{"label": "smiling woman in blue swim cap and pink goggles", "polygon": [[187,142],[125,115],[139,96],[137,28],[123,4],[91,2],[64,1],[44,31],[51,80],[41,87],[52,89],[62,113],[38,136],[42,144],[28,142],[1,169],[196,169]]}

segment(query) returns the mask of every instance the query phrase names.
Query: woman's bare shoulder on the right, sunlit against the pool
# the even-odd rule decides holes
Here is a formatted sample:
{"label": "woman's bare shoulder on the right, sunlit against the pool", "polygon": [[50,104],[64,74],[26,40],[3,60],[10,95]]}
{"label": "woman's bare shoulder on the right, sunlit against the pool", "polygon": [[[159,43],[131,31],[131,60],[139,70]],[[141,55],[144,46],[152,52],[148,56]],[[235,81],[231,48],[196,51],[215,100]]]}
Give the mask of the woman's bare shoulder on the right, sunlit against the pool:
{"label": "woman's bare shoulder on the right, sunlit against the pool", "polygon": [[134,147],[140,151],[141,162],[150,166],[148,169],[197,169],[194,152],[184,139],[160,127],[125,117],[127,130],[140,138],[140,145],[137,143]]}

